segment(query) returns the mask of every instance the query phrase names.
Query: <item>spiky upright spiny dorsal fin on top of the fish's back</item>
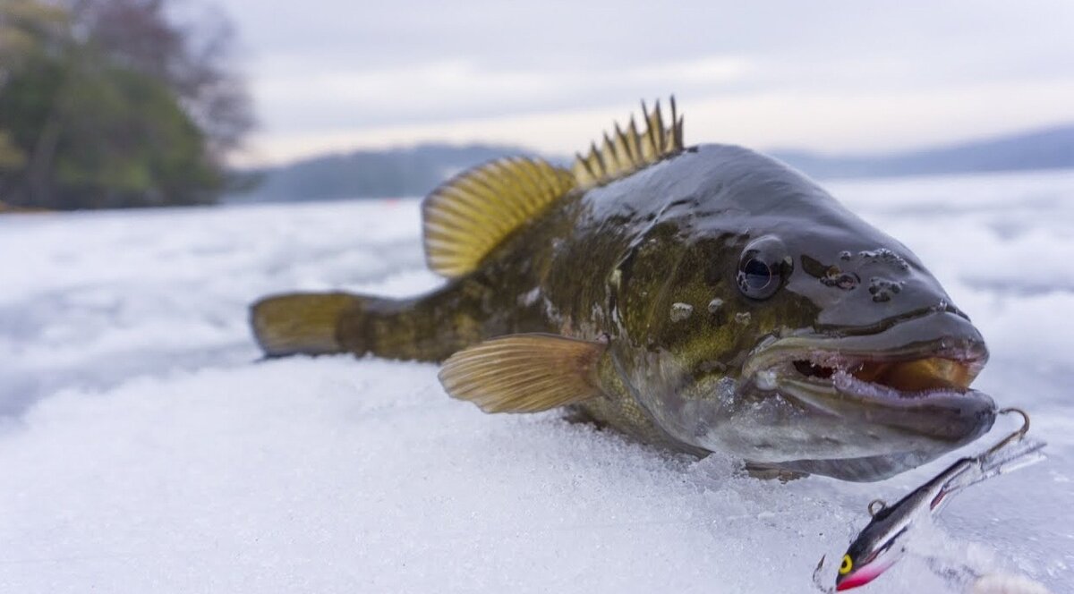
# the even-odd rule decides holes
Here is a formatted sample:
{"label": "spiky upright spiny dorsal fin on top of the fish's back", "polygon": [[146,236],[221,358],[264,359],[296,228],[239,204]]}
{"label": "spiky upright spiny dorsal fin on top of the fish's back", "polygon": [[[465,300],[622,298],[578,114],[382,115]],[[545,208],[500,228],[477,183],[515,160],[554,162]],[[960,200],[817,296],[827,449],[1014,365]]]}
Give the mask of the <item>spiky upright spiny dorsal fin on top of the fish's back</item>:
{"label": "spiky upright spiny dorsal fin on top of the fish's back", "polygon": [[592,188],[625,177],[682,150],[682,117],[676,111],[673,96],[670,125],[664,124],[659,101],[656,101],[652,112],[642,101],[641,115],[645,118],[644,132],[638,132],[632,117],[625,130],[616,124],[614,134],[609,136],[606,133],[599,148],[594,143],[590,145],[589,155],[578,155],[571,171],[580,188]]}

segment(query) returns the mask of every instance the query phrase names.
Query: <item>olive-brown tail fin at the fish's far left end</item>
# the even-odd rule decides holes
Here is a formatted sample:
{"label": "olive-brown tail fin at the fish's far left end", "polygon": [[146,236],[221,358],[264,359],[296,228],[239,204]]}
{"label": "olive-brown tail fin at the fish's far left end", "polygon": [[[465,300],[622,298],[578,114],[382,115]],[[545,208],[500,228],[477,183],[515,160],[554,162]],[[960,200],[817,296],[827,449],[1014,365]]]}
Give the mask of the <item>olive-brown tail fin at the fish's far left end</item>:
{"label": "olive-brown tail fin at the fish's far left end", "polygon": [[289,293],[250,307],[250,325],[268,357],[329,354],[346,350],[338,341],[339,319],[362,300],[347,293]]}

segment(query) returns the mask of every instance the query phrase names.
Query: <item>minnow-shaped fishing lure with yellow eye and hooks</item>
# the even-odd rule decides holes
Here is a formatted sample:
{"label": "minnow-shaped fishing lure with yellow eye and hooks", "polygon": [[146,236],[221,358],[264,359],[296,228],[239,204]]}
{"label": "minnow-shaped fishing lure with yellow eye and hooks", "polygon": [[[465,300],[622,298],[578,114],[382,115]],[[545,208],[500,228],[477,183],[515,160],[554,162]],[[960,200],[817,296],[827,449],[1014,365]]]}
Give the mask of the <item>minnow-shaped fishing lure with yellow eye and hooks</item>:
{"label": "minnow-shaped fishing lure with yellow eye and hooks", "polygon": [[[869,504],[872,520],[843,554],[836,576],[837,592],[865,585],[895,565],[906,553],[906,542],[914,527],[923,519],[938,516],[955,493],[1044,460],[1043,441],[1022,441],[1029,431],[1029,416],[1018,408],[1000,410],[1003,412],[1021,415],[1022,428],[979,455],[955,461],[894,505],[885,505],[880,499]],[[817,571],[823,565],[822,557]]]}

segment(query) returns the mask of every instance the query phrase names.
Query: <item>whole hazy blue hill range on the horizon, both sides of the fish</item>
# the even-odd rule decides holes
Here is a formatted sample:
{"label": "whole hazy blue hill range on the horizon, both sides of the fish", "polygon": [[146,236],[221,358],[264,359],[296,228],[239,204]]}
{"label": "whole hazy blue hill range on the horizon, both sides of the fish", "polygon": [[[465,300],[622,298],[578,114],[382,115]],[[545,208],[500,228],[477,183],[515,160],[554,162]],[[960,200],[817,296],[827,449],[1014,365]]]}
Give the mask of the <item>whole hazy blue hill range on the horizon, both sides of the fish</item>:
{"label": "whole hazy blue hill range on the horizon, both sides of the fish", "polygon": [[[998,139],[880,156],[826,156],[803,150],[766,151],[814,177],[930,175],[1074,168],[1074,124]],[[243,172],[233,202],[282,202],[424,195],[454,173],[512,155],[513,146],[423,144],[357,150],[278,168]],[[567,158],[551,157],[554,162]]]}

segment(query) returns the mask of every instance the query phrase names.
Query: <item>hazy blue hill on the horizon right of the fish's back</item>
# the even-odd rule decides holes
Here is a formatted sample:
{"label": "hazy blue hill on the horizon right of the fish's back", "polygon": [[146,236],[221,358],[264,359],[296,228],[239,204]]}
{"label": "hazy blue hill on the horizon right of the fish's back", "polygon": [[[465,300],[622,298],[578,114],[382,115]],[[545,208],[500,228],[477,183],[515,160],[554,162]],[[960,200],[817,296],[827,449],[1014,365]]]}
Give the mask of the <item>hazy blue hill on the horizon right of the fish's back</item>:
{"label": "hazy blue hill on the horizon right of the fish's back", "polygon": [[769,155],[814,177],[881,177],[1074,168],[1074,124],[998,139],[881,156]]}

